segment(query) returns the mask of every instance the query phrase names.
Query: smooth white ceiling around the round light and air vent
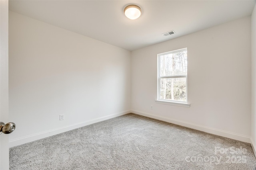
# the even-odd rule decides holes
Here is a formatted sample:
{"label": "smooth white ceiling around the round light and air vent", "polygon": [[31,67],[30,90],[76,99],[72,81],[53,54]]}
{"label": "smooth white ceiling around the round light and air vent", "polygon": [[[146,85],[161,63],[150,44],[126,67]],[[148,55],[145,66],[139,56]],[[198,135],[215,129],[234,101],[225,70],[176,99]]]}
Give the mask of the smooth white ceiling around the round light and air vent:
{"label": "smooth white ceiling around the round light and air vent", "polygon": [[[133,51],[250,16],[255,0],[10,0],[9,10]],[[142,8],[137,20],[127,5]],[[162,33],[174,30],[164,37]]]}

